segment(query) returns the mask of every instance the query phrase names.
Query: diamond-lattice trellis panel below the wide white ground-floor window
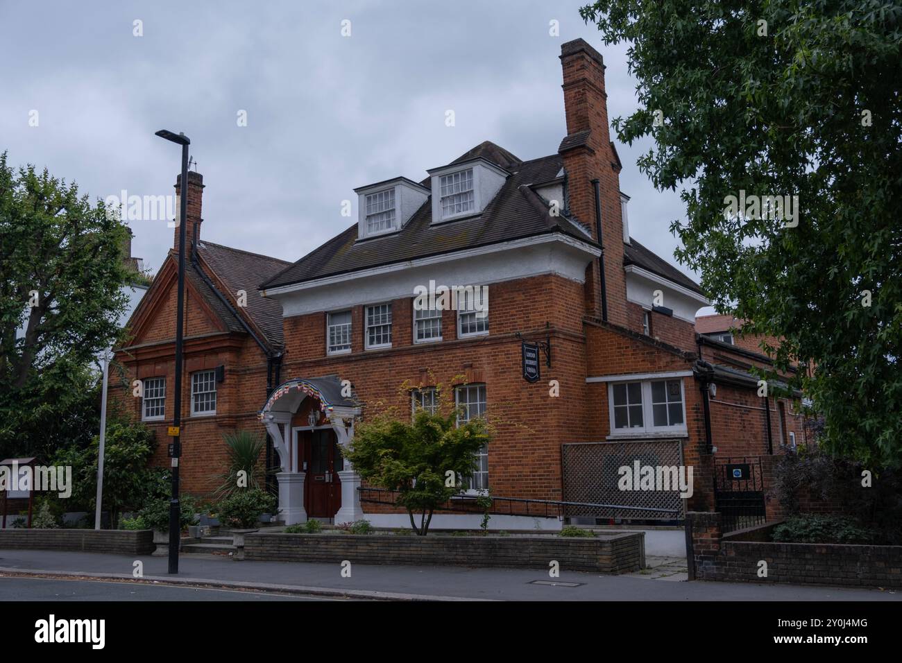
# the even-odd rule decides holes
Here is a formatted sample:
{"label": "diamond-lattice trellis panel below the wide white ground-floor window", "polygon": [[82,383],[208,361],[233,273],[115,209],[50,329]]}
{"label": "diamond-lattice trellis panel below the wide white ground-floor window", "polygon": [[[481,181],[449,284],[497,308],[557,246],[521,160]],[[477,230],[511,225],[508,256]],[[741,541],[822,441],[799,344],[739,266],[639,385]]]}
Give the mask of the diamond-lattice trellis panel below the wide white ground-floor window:
{"label": "diamond-lattice trellis panel below the wide white ground-floor window", "polygon": [[[621,520],[682,520],[678,488],[669,491],[621,490],[620,468],[683,466],[679,440],[592,442],[561,447],[566,516]],[[580,502],[574,504],[573,502]],[[608,506],[605,506],[608,505]],[[617,506],[612,506],[617,505]],[[630,509],[630,507],[636,507]]]}

